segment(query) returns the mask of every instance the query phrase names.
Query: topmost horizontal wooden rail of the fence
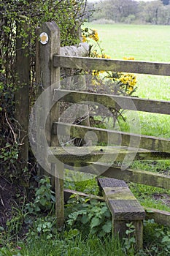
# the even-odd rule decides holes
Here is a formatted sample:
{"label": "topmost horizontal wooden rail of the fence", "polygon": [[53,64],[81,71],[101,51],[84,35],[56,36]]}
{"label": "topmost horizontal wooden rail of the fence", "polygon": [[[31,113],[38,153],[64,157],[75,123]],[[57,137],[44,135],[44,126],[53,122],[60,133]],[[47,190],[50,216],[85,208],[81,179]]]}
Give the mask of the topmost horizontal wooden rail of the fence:
{"label": "topmost horizontal wooden rail of the fence", "polygon": [[85,57],[53,56],[54,67],[74,69],[112,70],[115,72],[133,72],[139,74],[170,75],[170,64],[149,61],[125,61]]}

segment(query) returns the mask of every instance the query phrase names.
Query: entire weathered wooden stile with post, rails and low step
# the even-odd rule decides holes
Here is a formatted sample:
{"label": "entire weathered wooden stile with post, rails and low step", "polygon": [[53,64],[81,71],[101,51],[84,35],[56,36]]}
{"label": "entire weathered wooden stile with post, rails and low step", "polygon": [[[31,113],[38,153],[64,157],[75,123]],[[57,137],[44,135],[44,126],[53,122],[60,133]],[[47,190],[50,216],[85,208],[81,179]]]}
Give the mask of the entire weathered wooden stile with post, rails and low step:
{"label": "entire weathered wooden stile with post, rails and low step", "polygon": [[[170,64],[169,63],[157,63],[157,62],[144,62],[144,61],[120,61],[113,59],[91,59],[84,57],[88,53],[88,45],[80,44],[71,47],[60,48],[60,33],[55,23],[45,23],[40,28],[40,32],[45,32],[49,35],[49,42],[47,45],[39,45],[39,85],[40,93],[43,89],[51,86],[55,83],[56,79],[60,80],[60,69],[98,69],[108,70],[114,72],[133,72],[141,74],[152,74],[152,75],[170,75]],[[81,53],[81,48],[83,48]],[[72,56],[69,56],[72,55]],[[82,57],[83,56],[83,57]],[[144,111],[148,113],[160,113],[170,114],[170,102],[169,101],[158,101],[152,99],[140,99],[137,97],[122,97],[117,95],[109,94],[94,94],[91,92],[85,92],[85,80],[81,80],[83,91],[73,91],[72,88],[61,90],[59,86],[53,86],[49,93],[49,99],[54,102],[58,100],[63,102],[71,102],[86,105],[85,102],[98,102],[107,108],[123,108],[128,110]],[[60,83],[58,83],[60,85]],[[70,86],[72,87],[72,86]],[[132,102],[132,104],[128,104]],[[49,102],[46,102],[47,107]],[[85,108],[86,108],[85,107]],[[45,108],[45,106],[42,106]],[[80,107],[81,108],[81,107]],[[87,109],[86,108],[86,109]],[[120,162],[123,161],[125,155],[130,156],[136,154],[136,159],[170,159],[170,140],[165,138],[157,138],[154,136],[137,135],[128,132],[112,131],[109,129],[99,129],[95,127],[89,127],[87,124],[70,124],[62,123],[58,114],[57,108],[50,110],[49,116],[46,122],[46,137],[49,144],[47,148],[47,161],[51,164],[51,173],[55,173],[55,195],[56,195],[56,215],[58,218],[58,227],[63,226],[63,172],[64,164],[69,163],[70,166],[78,165],[84,167],[86,164],[90,165],[93,162],[96,173],[100,173],[102,167],[104,167],[104,173],[102,176],[107,176],[112,180],[112,187],[102,185],[104,193],[107,198],[109,208],[112,211],[114,219],[114,232],[120,233],[120,236],[125,233],[125,223],[133,222],[136,227],[136,241],[137,248],[142,248],[142,220],[144,219],[144,209],[139,205],[138,201],[132,195],[124,181],[133,181],[140,184],[147,184],[154,187],[162,187],[164,189],[170,189],[170,176],[162,175],[161,173],[151,173],[143,170],[131,170],[115,167],[114,165],[107,165],[106,162],[112,160],[115,154],[117,154],[117,148],[114,146],[122,146],[118,148],[119,154],[117,158]],[[41,118],[39,116],[39,124],[41,125]],[[102,146],[94,147],[87,146],[86,150],[89,149],[90,154],[86,151],[85,154],[79,154],[85,147],[73,149],[69,147],[68,152],[64,151],[59,145],[58,134],[63,136],[70,136],[73,138],[84,139],[87,132],[96,134],[99,142],[108,142],[111,149]],[[39,141],[44,138],[45,134],[40,132]],[[93,138],[92,138],[93,139]],[[133,142],[133,148],[128,148],[129,143]],[[138,145],[139,144],[139,145]],[[43,146],[43,145],[42,145]],[[124,147],[124,148],[123,148]],[[128,150],[127,150],[128,148]],[[101,150],[102,149],[102,150]],[[75,154],[77,150],[77,154]],[[92,152],[92,153],[91,153]],[[162,154],[162,155],[161,155]],[[106,162],[100,162],[101,155],[105,157]],[[43,157],[43,155],[42,155]],[[54,160],[56,157],[56,161]],[[88,169],[90,171],[90,169]],[[115,184],[115,180],[110,178],[124,179],[124,181],[118,181],[119,185]],[[104,182],[105,182],[104,181]],[[115,191],[113,191],[115,190]],[[119,209],[121,208],[121,212]],[[167,214],[163,213],[164,221],[169,219]],[[169,214],[168,214],[169,215]],[[155,219],[162,221],[160,218],[161,212],[159,211]],[[161,219],[161,220],[160,220]],[[163,222],[163,223],[165,223]]]}

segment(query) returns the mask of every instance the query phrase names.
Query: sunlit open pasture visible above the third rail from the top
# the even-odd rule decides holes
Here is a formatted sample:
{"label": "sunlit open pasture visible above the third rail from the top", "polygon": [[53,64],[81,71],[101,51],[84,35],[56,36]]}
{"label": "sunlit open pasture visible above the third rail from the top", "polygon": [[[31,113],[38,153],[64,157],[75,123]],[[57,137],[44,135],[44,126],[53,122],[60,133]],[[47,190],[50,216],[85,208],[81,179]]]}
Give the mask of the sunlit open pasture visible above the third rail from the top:
{"label": "sunlit open pasture visible above the third rail from the top", "polygon": [[[134,57],[139,61],[170,61],[170,26],[93,23],[85,23],[85,26],[98,31],[101,48],[112,59]],[[136,78],[134,95],[170,100],[170,77],[136,74]],[[150,113],[139,113],[139,116],[142,134],[170,138],[170,116]],[[121,126],[126,129],[123,122]]]}

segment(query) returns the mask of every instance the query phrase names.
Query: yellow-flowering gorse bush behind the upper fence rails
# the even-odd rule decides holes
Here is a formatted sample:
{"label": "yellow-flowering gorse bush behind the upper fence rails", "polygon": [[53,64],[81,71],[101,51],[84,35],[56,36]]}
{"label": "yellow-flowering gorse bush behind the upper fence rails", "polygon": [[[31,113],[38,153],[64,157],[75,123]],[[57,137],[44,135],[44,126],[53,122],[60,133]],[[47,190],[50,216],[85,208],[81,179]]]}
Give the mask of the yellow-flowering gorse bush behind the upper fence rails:
{"label": "yellow-flowering gorse bush behind the upper fence rails", "polygon": [[[110,57],[104,53],[104,49],[101,48],[98,32],[96,30],[88,28],[82,29],[82,41],[90,44],[90,57],[110,59]],[[124,57],[123,59],[134,60],[134,57]],[[92,70],[88,71],[88,74],[91,75],[90,83],[88,83],[89,91],[123,96],[132,96],[136,91],[136,76],[132,73]],[[115,127],[117,118],[123,118],[123,110],[120,110],[119,108],[109,108],[109,111],[111,114],[110,116],[114,119],[113,127]],[[123,120],[125,121],[125,118],[123,118]]]}

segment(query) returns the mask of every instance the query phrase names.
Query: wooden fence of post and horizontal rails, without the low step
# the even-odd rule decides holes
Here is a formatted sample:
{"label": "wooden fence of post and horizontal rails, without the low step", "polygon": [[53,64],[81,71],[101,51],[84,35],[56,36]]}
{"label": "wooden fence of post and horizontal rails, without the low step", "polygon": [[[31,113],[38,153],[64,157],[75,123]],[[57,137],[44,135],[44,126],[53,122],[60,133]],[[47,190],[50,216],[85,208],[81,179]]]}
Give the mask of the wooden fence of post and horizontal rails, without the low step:
{"label": "wooden fence of post and horizontal rails, without the low step", "polygon": [[[170,115],[170,101],[141,99],[136,97],[123,97],[110,94],[96,94],[85,91],[62,90],[60,89],[61,68],[67,69],[98,69],[115,72],[133,72],[138,74],[151,74],[151,75],[165,75],[170,76],[169,63],[157,63],[146,61],[120,61],[114,59],[91,59],[85,56],[77,55],[75,50],[70,55],[70,51],[64,50],[60,47],[60,31],[55,23],[45,23],[39,29],[38,34],[45,33],[48,36],[46,44],[38,43],[37,58],[36,58],[36,74],[38,75],[38,83],[40,92],[47,89],[52,84],[56,86],[49,92],[49,99],[54,102],[61,99],[64,102],[98,102],[107,108],[115,108],[117,102],[121,102],[121,108],[131,110],[131,105],[127,102],[131,100],[137,111],[144,111],[149,113],[161,113]],[[70,48],[72,49],[72,47]],[[68,50],[68,48],[67,48]],[[87,52],[86,52],[87,53]],[[74,55],[74,56],[73,56]],[[52,96],[53,95],[53,96]],[[50,104],[47,102],[47,104]],[[129,107],[127,107],[129,106]],[[42,106],[43,107],[43,106]],[[39,117],[38,117],[39,118]],[[39,118],[39,127],[42,126],[43,117]],[[40,130],[39,130],[40,131]],[[50,114],[46,122],[46,131],[39,132],[39,143],[45,137],[48,141],[50,154],[47,161],[51,163],[51,173],[55,174],[55,189],[56,189],[56,214],[58,217],[58,225],[63,225],[63,169],[64,164],[68,162],[77,162],[78,165],[84,162],[93,162],[98,173],[102,167],[105,167],[102,176],[109,178],[118,178],[124,181],[133,181],[139,184],[145,184],[153,187],[161,187],[163,189],[170,189],[170,176],[161,173],[152,173],[144,170],[131,170],[126,168],[121,170],[120,167],[107,166],[107,160],[112,159],[117,151],[111,145],[111,149],[103,148],[90,148],[90,154],[79,154],[75,156],[74,153],[67,153],[63,148],[59,147],[58,134],[70,135],[74,138],[84,138],[85,133],[91,131],[95,132],[98,141],[107,143],[107,136],[111,138],[111,144],[118,141],[121,137],[122,148],[119,151],[118,157],[122,160],[126,154],[133,154],[137,151],[135,159],[170,159],[170,140],[165,138],[156,138],[154,136],[136,135],[128,132],[117,132],[115,130],[106,130],[100,128],[89,127],[88,125],[69,124],[60,121],[58,103],[55,108],[50,110]],[[132,148],[129,151],[130,140],[139,139],[139,148]],[[41,144],[43,148],[45,145]],[[124,147],[124,148],[123,148]],[[85,148],[85,147],[82,147]],[[79,148],[78,151],[83,150]],[[74,148],[75,149],[75,148]],[[93,150],[91,150],[93,149]],[[106,151],[105,151],[106,149]],[[134,151],[133,151],[134,149]],[[39,148],[41,151],[41,149]],[[101,155],[104,155],[106,162],[98,162]],[[57,165],[55,158],[61,159],[63,164]],[[93,172],[92,172],[93,173]],[[152,209],[149,217],[154,218],[156,222],[170,225],[170,213],[166,211],[159,211]]]}

